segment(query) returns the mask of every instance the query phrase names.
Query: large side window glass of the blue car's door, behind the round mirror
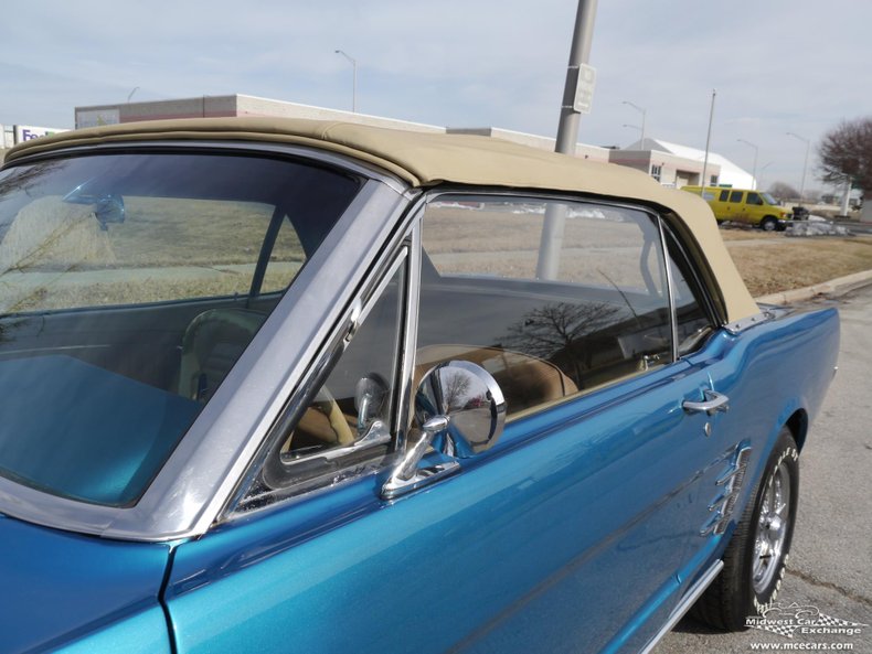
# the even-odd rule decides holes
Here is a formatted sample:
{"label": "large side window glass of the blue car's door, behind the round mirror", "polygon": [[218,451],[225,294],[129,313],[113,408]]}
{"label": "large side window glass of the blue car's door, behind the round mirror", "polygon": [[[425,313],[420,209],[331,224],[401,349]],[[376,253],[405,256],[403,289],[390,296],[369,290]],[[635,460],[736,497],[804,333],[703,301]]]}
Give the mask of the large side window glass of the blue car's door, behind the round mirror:
{"label": "large side window glass of the blue car's door, behind the round mirror", "polygon": [[[545,247],[543,233],[554,234]],[[474,362],[511,417],[671,358],[660,233],[645,212],[442,196],[423,247],[415,382],[440,362]]]}

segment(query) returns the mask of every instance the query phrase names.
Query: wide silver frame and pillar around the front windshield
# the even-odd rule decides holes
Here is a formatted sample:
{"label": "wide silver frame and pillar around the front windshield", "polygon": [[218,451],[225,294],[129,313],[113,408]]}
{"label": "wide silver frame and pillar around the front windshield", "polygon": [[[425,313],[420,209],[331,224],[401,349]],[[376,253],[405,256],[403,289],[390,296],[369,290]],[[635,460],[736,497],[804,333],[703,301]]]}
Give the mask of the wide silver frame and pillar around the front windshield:
{"label": "wide silver frame and pillar around the front windshield", "polygon": [[[146,143],[71,148],[83,150],[141,149]],[[193,151],[200,141],[168,141],[149,147]],[[221,150],[234,149],[219,143]],[[209,146],[206,146],[209,147]],[[344,158],[297,147],[238,149],[297,153],[336,164],[351,173],[364,169]],[[62,151],[52,152],[52,157]],[[17,160],[32,162],[42,157]],[[172,452],[139,502],[131,507],[107,507],[50,495],[0,478],[0,514],[64,530],[107,538],[167,542],[204,534],[215,522],[248,468],[260,441],[304,378],[321,343],[342,315],[382,246],[395,232],[410,196],[383,175],[366,172],[364,183],[325,239],[304,266],[260,331],[234,365],[188,433]]]}

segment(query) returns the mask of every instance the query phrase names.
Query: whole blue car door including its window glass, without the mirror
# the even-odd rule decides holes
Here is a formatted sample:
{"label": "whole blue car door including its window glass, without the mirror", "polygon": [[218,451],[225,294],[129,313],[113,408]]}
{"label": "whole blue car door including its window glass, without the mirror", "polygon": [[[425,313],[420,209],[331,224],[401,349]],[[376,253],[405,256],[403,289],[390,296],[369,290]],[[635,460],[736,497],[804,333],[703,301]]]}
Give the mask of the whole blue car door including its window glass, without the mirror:
{"label": "whole blue car door including its window glass, without the mirror", "polygon": [[[228,519],[177,548],[178,651],[644,645],[695,551],[710,459],[705,418],[682,408],[703,382],[677,356],[662,234],[634,207],[434,197]],[[449,361],[499,383],[502,439],[385,500],[410,387]]]}

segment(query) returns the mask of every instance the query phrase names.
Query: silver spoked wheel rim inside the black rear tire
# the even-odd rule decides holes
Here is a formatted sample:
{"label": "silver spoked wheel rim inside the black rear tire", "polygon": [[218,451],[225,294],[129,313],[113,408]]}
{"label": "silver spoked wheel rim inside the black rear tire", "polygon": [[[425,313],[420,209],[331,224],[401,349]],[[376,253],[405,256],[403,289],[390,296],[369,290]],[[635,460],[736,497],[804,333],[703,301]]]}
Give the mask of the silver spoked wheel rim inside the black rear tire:
{"label": "silver spoked wheel rim inside the black rear tire", "polygon": [[780,568],[790,525],[790,471],[783,461],[766,482],[754,538],[753,583],[763,594]]}

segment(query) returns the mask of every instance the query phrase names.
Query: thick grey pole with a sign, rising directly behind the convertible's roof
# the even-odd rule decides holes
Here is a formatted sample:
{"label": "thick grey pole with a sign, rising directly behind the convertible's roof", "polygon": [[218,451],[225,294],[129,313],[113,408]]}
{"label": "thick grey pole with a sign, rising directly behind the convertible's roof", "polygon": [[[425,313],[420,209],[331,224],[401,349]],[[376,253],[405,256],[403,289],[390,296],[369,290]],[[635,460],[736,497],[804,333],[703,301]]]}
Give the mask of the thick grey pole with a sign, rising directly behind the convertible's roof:
{"label": "thick grey pole with a sign, rising directly behind the convertible's roof", "polygon": [[[575,156],[578,142],[578,114],[573,105],[578,87],[578,68],[591,57],[594,39],[597,0],[578,0],[575,14],[575,30],[570,49],[570,63],[566,68],[566,84],[563,87],[563,104],[557,124],[557,142],[554,151]],[[560,269],[560,250],[563,245],[563,226],[566,222],[566,205],[549,203],[542,225],[542,239],[539,244],[536,279],[556,279]]]}

